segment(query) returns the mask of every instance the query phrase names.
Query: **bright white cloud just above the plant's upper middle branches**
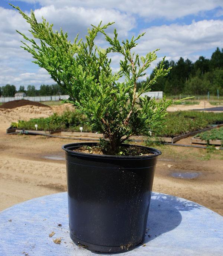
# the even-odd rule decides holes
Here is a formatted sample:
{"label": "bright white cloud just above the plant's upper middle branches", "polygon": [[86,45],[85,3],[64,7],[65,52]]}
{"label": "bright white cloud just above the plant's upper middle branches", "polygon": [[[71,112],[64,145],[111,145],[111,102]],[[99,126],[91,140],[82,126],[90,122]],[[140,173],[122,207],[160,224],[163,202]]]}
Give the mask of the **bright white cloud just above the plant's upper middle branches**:
{"label": "bright white cloud just above the plant's upper middle branches", "polygon": [[111,21],[116,22],[108,31],[113,31],[115,26],[125,36],[135,27],[134,17],[129,17],[117,10],[104,8],[55,7],[51,5],[35,10],[35,15],[39,21],[42,16],[45,17],[46,20],[54,24],[54,28],[57,30],[62,27],[72,39],[75,38],[77,33],[80,33],[80,36],[83,37],[87,33],[87,28],[90,28],[90,24],[98,25],[101,20],[104,24]]}

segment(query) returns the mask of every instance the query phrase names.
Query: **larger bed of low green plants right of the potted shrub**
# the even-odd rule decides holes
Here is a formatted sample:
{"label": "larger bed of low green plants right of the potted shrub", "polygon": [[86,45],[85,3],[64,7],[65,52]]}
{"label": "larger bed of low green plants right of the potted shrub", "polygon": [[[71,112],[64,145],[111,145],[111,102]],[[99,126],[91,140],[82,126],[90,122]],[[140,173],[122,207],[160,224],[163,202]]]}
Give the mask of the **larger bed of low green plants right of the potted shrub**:
{"label": "larger bed of low green plants right of the potted shrub", "polygon": [[211,124],[223,123],[223,113],[177,111],[165,117],[166,127],[159,129],[154,135],[175,137],[192,131],[209,127]]}

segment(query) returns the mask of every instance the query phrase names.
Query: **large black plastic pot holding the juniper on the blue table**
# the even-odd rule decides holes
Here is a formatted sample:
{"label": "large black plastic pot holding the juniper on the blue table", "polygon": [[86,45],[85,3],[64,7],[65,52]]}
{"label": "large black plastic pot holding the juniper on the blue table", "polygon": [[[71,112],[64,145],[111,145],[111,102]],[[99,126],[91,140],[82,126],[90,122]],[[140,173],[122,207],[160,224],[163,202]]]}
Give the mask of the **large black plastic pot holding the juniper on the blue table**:
{"label": "large black plastic pot holding the juniper on the blue table", "polygon": [[[150,156],[66,151],[70,237],[97,252],[125,252],[142,243],[159,150]],[[127,147],[128,145],[126,145]]]}

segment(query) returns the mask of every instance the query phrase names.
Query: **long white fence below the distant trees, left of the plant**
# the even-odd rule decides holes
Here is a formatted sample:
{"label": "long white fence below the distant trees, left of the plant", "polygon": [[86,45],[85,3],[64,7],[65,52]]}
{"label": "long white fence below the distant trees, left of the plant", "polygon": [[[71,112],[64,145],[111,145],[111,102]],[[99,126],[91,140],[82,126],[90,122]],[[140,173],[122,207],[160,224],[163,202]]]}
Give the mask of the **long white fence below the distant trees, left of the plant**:
{"label": "long white fence below the distant trees, left of the plant", "polygon": [[56,96],[36,96],[36,97],[0,97],[0,102],[9,102],[12,100],[31,100],[31,101],[51,101],[51,100],[64,100],[68,99],[68,95]]}

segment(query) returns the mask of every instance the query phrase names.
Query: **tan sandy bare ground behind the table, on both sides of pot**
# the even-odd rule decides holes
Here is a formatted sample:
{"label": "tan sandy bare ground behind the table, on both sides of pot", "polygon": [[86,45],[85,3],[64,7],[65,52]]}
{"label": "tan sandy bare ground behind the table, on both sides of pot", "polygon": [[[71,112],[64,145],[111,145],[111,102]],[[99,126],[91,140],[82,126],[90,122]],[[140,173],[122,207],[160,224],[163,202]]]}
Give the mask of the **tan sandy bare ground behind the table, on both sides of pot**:
{"label": "tan sandy bare ground behind the table, on both sides of pot", "polygon": [[[71,140],[5,133],[12,121],[49,116],[65,108],[0,109],[0,210],[38,196],[66,191],[61,145],[71,143]],[[190,138],[180,143],[190,143]],[[153,191],[192,200],[223,215],[223,151],[215,154],[197,148],[159,147],[163,154],[157,163]],[[52,156],[61,160],[47,159]],[[199,176],[181,179],[172,177],[174,172],[196,172]]]}

